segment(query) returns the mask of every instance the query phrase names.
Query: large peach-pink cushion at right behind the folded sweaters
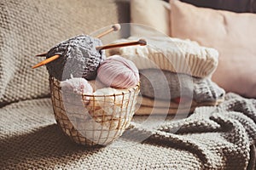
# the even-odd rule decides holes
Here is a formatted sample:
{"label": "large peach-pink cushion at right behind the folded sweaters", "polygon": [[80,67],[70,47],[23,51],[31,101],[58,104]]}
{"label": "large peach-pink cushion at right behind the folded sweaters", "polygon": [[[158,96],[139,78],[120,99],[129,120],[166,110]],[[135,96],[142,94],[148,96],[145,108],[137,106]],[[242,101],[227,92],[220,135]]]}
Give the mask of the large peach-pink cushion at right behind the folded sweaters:
{"label": "large peach-pink cushion at right behind the folded sweaters", "polygon": [[219,52],[212,80],[226,91],[256,97],[256,14],[197,8],[172,1],[172,36]]}

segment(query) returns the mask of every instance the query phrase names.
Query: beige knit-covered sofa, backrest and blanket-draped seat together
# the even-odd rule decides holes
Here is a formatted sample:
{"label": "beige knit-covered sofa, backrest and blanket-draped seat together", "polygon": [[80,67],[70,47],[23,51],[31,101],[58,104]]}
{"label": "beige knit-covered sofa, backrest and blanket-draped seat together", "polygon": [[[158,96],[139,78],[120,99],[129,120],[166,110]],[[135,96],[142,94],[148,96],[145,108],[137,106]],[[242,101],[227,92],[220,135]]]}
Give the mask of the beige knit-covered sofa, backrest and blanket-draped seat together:
{"label": "beige knit-covered sofa, backrest and blanket-draped seat together", "polygon": [[223,104],[198,107],[185,117],[167,116],[154,129],[141,127],[147,116],[134,116],[129,128],[136,138],[124,133],[107,146],[74,144],[61,132],[49,98],[48,72],[45,67],[32,70],[42,60],[34,55],[68,37],[129,23],[134,20],[130,3],[1,1],[1,168],[255,169],[256,99],[231,90]]}

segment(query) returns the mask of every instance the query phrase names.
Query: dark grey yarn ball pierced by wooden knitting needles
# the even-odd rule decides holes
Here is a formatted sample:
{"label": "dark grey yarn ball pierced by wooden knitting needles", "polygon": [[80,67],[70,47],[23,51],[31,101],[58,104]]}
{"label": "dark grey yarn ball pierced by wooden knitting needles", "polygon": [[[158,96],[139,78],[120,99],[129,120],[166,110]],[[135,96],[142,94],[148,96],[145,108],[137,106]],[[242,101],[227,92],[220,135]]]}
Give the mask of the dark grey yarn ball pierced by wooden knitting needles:
{"label": "dark grey yarn ball pierced by wooden knitting needles", "polygon": [[104,51],[97,50],[97,46],[102,46],[100,39],[84,35],[59,43],[46,55],[46,58],[61,55],[46,65],[49,75],[60,81],[72,76],[95,79],[98,66],[106,59]]}

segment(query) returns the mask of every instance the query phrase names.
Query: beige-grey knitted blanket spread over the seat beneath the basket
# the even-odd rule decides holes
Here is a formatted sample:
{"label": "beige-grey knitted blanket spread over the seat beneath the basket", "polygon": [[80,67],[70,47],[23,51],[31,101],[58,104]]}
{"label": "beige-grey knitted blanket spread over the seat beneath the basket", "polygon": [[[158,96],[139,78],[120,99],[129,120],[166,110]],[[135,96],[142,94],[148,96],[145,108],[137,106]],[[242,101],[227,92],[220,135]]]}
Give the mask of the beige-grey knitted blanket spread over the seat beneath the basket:
{"label": "beige-grey knitted blanket spread over the seat beneath the basket", "polygon": [[[3,169],[254,169],[256,99],[227,94],[218,107],[154,128],[134,116],[130,131],[105,147],[73,144],[55,124],[49,99],[0,109]],[[157,119],[153,117],[152,121]],[[129,132],[129,133],[128,133]],[[143,136],[148,136],[143,142]]]}

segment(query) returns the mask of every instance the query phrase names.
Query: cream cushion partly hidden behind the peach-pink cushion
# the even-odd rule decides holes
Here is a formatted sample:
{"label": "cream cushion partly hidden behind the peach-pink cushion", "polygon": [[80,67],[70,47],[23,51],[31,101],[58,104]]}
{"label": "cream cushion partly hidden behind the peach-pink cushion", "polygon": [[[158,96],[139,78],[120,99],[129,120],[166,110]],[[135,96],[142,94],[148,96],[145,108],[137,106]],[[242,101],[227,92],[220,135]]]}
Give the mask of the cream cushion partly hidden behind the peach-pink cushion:
{"label": "cream cushion partly hidden behind the peach-pink cushion", "polygon": [[[170,4],[162,0],[131,0],[131,36],[170,35]],[[148,27],[149,26],[149,27]]]}

